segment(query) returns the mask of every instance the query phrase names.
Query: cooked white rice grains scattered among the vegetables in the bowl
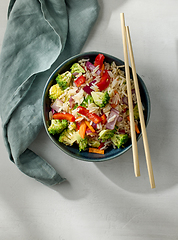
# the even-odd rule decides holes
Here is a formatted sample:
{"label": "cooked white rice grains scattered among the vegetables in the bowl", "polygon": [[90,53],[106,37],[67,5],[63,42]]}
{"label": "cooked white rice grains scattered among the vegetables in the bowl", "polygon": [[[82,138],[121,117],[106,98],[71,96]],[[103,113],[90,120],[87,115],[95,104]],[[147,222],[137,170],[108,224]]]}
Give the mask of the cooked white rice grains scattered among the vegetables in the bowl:
{"label": "cooked white rice grains scattered among the vegetables in the bowl", "polygon": [[[102,74],[98,74],[99,66],[93,68],[93,71],[90,71],[86,67],[86,62],[90,61],[89,59],[81,59],[78,63],[80,66],[85,70],[85,73],[79,73],[77,76],[74,77],[74,81],[71,81],[70,87],[65,89],[63,93],[58,97],[60,100],[60,106],[59,107],[59,112],[64,111],[66,113],[71,113],[75,117],[75,121],[78,124],[81,122],[83,119],[86,119],[88,122],[90,122],[90,125],[92,126],[93,122],[86,117],[85,115],[82,115],[78,113],[77,107],[74,108],[74,106],[80,106],[83,104],[85,99],[89,97],[89,94],[86,93],[83,88],[85,86],[90,87],[91,90],[95,92],[100,92],[100,88],[97,86],[97,83],[101,81]],[[112,117],[109,117],[111,109],[115,108],[116,110],[119,111],[119,117],[120,120],[116,122],[117,126],[117,132],[120,134],[121,132],[125,132],[128,134],[130,137],[130,122],[128,121],[128,113],[126,110],[128,109],[127,102],[125,102],[123,99],[128,98],[127,95],[127,84],[126,84],[126,78],[125,74],[123,71],[123,68],[125,67],[124,65],[122,66],[117,66],[115,62],[106,63],[104,62],[104,67],[105,70],[108,71],[108,74],[110,76],[110,83],[109,85],[102,91],[105,92],[107,91],[109,94],[109,102],[104,106],[104,107],[99,107],[95,104],[95,102],[90,101],[90,98],[88,98],[88,102],[85,102],[87,104],[86,108],[89,111],[89,113],[96,114],[98,116],[102,116],[105,114],[107,123],[113,122],[115,118],[117,117],[116,115],[113,115]],[[75,78],[83,75],[85,77],[85,82],[80,85],[80,87],[76,87],[75,85]],[[131,89],[134,89],[134,82],[131,79]],[[92,84],[91,84],[92,83]],[[132,99],[133,103],[136,104],[136,95],[134,93],[134,90],[132,92]],[[72,96],[72,106],[71,107],[71,100]],[[98,99],[97,104],[99,103],[102,104],[102,100]],[[85,105],[84,105],[85,107]],[[80,118],[79,118],[80,116]],[[49,113],[50,119],[52,119],[52,112]],[[100,131],[106,129],[106,124],[103,124],[99,122],[98,124],[95,124],[95,130],[96,132],[93,133],[88,133],[88,136],[92,137],[92,140],[98,140],[98,134]],[[107,141],[104,142],[104,146],[101,148],[101,150],[105,150],[108,148],[108,146],[113,146],[114,148],[116,147],[111,139],[108,139]]]}

